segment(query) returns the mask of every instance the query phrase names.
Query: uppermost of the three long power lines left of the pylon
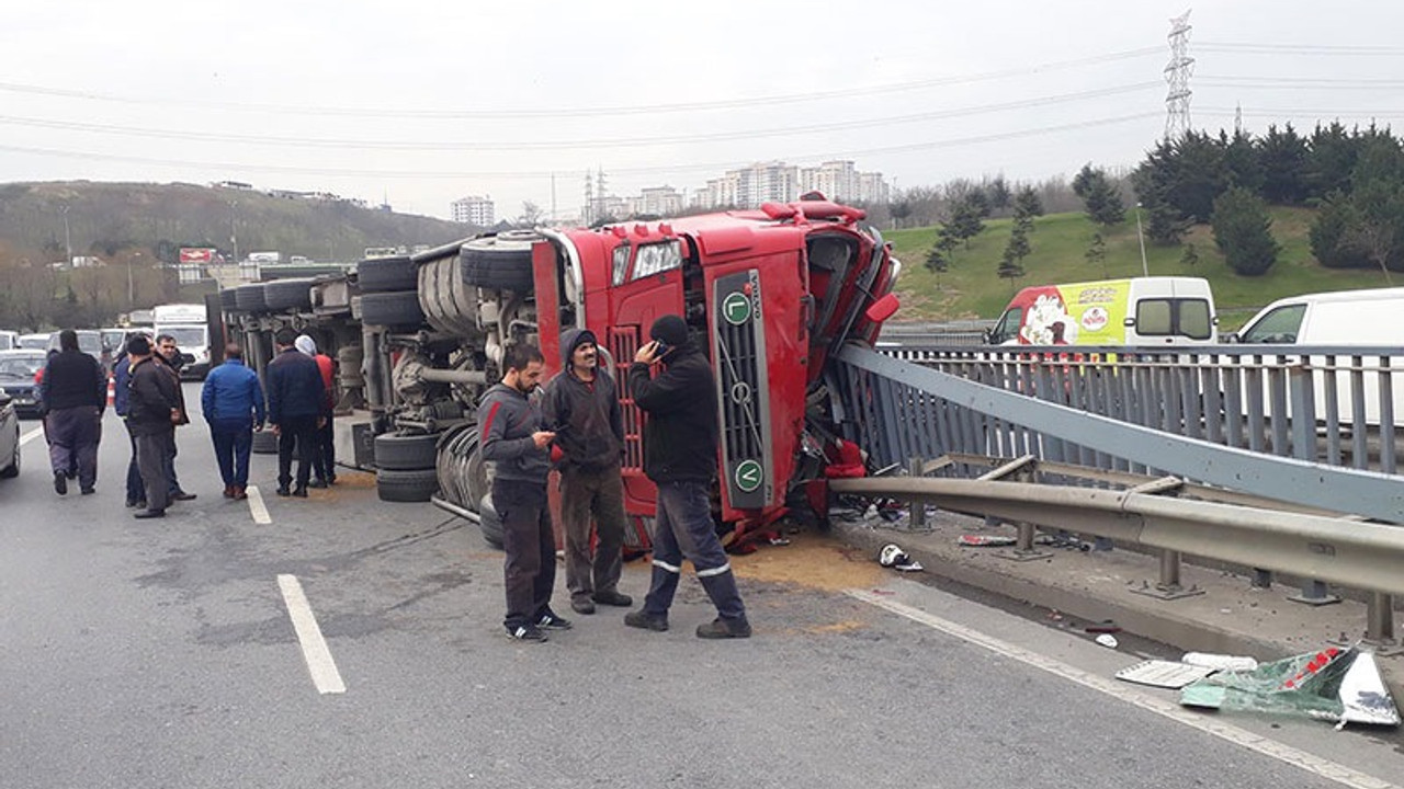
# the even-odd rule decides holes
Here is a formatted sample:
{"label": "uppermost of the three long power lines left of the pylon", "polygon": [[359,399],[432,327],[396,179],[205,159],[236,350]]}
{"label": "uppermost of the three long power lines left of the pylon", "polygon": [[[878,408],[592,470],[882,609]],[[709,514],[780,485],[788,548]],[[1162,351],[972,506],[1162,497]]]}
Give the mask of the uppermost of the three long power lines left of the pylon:
{"label": "uppermost of the three long power lines left of the pylon", "polygon": [[241,104],[230,101],[208,101],[198,98],[168,98],[168,97],[131,97],[131,95],[115,95],[95,91],[73,90],[73,88],[58,88],[49,86],[35,86],[22,83],[0,83],[0,91],[7,93],[24,93],[32,95],[48,95],[56,98],[79,98],[84,101],[104,101],[115,104],[157,104],[163,107],[202,107],[209,110],[233,110],[244,112],[274,112],[278,115],[334,115],[347,118],[434,118],[434,119],[512,119],[512,118],[587,118],[587,117],[609,117],[609,115],[639,115],[639,114],[660,114],[660,112],[696,112],[709,110],[736,110],[741,107],[774,107],[776,104],[797,104],[806,101],[827,101],[833,98],[848,98],[855,95],[878,95],[887,93],[901,93],[922,90],[929,87],[943,87],[956,84],[969,84],[980,81],[1001,80],[1009,77],[1021,77],[1029,74],[1038,74],[1043,72],[1056,72],[1063,69],[1075,69],[1080,66],[1090,66],[1097,63],[1111,63],[1116,60],[1126,60],[1132,58],[1141,58],[1158,52],[1154,46],[1147,46],[1141,49],[1127,49],[1123,52],[1108,52],[1104,55],[1092,55],[1088,58],[1075,58],[1071,60],[1057,60],[1053,63],[1042,63],[1036,66],[1025,66],[1019,69],[1004,69],[998,72],[984,72],[977,74],[965,76],[951,76],[951,77],[934,77],[925,80],[914,80],[906,83],[890,83],[869,87],[852,87],[852,88],[828,88],[816,90],[807,93],[793,93],[781,95],[765,95],[757,98],[733,98],[723,101],[694,101],[694,102],[680,102],[680,104],[643,104],[643,105],[621,105],[621,107],[574,107],[574,108],[552,108],[552,110],[368,110],[361,107],[295,107],[295,105],[281,105],[281,104]]}

